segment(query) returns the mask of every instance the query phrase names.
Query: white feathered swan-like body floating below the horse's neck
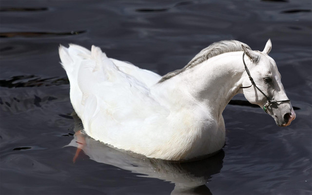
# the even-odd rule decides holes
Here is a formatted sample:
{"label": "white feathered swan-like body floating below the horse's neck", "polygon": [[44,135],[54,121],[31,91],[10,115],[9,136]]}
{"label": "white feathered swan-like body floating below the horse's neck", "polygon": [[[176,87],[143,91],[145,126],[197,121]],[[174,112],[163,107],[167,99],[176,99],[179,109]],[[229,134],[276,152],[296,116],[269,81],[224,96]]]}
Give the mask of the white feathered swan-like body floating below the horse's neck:
{"label": "white feathered swan-like body floating below the horse's neck", "polygon": [[60,46],[70,99],[85,132],[118,149],[147,157],[188,160],[224,145],[222,115],[196,101],[179,78],[109,59],[98,47]]}

